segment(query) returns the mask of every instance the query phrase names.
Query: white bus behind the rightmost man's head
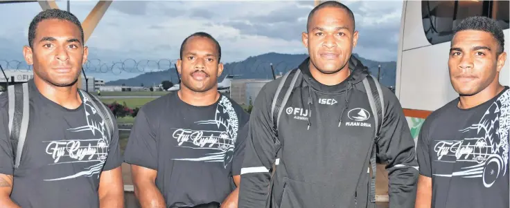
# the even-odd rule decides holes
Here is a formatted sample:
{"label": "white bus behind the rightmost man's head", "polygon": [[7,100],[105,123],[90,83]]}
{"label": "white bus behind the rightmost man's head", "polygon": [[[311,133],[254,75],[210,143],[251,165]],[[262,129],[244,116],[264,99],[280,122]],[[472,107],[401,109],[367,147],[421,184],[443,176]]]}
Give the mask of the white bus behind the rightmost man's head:
{"label": "white bus behind the rightmost man's head", "polygon": [[[404,1],[396,68],[396,96],[416,137],[425,117],[457,97],[448,75],[452,28],[466,17],[495,19],[509,53],[509,1]],[[510,57],[500,81],[510,84]]]}

